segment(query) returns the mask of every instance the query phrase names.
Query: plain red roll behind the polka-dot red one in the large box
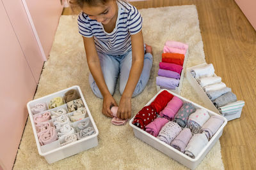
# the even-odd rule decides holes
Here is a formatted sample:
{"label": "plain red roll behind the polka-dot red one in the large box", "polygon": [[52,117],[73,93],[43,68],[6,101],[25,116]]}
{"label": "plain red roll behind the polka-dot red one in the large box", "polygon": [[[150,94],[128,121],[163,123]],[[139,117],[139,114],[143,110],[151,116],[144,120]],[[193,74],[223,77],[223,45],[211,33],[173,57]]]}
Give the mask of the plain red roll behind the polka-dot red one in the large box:
{"label": "plain red roll behind the polka-dot red one in the large box", "polygon": [[173,95],[163,90],[163,92],[159,93],[156,99],[150,104],[152,108],[155,108],[156,113],[159,114],[162,111],[167,103],[172,99]]}

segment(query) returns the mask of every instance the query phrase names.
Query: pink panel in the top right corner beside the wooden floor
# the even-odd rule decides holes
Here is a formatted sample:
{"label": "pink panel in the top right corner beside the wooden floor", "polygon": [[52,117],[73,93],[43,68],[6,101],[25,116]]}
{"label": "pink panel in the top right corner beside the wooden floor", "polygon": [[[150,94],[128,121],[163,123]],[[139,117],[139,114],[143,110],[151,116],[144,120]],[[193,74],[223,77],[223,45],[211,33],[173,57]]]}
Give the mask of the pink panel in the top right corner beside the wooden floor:
{"label": "pink panel in the top right corner beside the wooden floor", "polygon": [[235,0],[246,18],[256,30],[256,0]]}

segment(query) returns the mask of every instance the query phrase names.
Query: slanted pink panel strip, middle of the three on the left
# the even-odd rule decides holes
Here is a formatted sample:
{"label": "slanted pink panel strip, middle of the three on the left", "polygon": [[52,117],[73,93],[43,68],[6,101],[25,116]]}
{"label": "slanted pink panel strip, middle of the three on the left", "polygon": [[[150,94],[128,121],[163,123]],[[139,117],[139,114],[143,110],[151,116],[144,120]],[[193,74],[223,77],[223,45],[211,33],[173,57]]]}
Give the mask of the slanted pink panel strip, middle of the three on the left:
{"label": "slanted pink panel strip, middle of the three on the left", "polygon": [[[38,83],[44,60],[40,48],[35,38],[31,24],[29,23],[28,16],[22,4],[19,0],[2,0],[4,7],[8,13],[8,17],[12,23],[13,29],[19,43],[22,47],[22,51],[28,60],[29,67],[33,73],[33,76]],[[13,5],[15,1],[15,5]]]}

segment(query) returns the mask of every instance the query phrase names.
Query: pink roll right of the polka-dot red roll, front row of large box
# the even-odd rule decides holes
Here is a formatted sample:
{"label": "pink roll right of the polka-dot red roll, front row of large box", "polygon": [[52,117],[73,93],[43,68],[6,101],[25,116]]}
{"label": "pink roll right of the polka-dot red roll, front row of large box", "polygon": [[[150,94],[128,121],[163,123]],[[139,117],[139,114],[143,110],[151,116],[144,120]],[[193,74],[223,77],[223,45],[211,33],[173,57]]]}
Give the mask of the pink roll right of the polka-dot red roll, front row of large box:
{"label": "pink roll right of the polka-dot red roll, front row of large box", "polygon": [[168,120],[166,118],[156,118],[153,122],[150,122],[150,124],[146,125],[146,132],[157,137],[159,131],[167,122]]}

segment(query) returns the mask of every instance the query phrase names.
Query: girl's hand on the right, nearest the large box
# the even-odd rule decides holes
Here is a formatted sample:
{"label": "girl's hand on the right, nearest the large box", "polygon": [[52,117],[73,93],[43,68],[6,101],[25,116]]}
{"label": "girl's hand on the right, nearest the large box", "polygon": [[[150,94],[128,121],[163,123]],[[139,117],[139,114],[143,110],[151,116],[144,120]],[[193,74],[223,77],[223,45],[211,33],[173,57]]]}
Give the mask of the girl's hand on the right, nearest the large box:
{"label": "girl's hand on the right, nearest the large box", "polygon": [[131,118],[131,97],[121,97],[116,116],[122,119]]}

